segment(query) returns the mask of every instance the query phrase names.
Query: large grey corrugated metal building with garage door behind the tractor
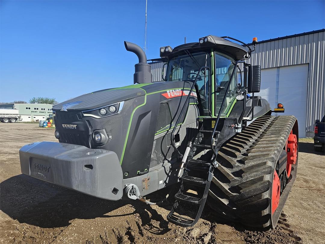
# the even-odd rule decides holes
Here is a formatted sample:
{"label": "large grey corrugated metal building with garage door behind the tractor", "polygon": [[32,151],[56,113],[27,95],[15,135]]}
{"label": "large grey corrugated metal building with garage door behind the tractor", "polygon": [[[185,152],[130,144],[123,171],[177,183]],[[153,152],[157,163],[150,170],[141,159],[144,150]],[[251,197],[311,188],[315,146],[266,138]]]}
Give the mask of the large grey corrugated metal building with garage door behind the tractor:
{"label": "large grey corrugated metal building with garage door behind the tractor", "polygon": [[[325,29],[321,29],[259,41],[247,61],[261,65],[259,95],[272,108],[283,103],[284,114],[298,118],[299,137],[313,136],[315,119],[325,113],[324,53]],[[151,66],[153,80],[161,81],[162,62]]]}

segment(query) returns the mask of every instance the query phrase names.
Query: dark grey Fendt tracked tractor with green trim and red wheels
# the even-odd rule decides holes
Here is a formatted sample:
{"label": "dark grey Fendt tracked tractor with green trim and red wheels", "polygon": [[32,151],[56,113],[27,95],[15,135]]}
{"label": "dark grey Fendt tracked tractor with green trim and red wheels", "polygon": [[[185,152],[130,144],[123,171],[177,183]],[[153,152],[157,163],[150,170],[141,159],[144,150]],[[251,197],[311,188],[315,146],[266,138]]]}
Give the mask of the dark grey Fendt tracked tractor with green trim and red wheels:
{"label": "dark grey Fendt tracked tractor with green trim and red wheels", "polygon": [[169,222],[193,226],[207,203],[216,218],[274,228],[296,176],[298,122],[255,96],[260,66],[245,60],[256,44],[208,35],[161,47],[163,81],[152,82],[146,54],[124,42],[139,59],[134,84],[54,105],[59,142],[23,146],[21,172],[148,204],[144,196],[175,184]]}

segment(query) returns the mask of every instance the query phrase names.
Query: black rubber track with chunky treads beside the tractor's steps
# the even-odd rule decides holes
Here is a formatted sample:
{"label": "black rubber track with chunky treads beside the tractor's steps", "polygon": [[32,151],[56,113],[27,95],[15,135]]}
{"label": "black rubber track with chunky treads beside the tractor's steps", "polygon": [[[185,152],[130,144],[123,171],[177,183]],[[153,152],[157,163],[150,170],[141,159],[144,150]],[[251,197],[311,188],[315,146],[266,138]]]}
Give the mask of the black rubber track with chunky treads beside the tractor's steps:
{"label": "black rubber track with chunky treads beside the tractor's steps", "polygon": [[223,144],[210,186],[213,210],[247,226],[272,225],[272,177],[295,122],[294,116],[264,115]]}

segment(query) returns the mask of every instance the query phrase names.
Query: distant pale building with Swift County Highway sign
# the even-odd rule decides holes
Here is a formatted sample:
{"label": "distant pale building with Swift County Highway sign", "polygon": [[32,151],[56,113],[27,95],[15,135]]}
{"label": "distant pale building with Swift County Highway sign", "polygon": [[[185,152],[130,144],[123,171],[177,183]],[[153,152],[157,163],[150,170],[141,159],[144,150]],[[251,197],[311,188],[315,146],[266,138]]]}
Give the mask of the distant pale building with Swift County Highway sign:
{"label": "distant pale building with Swift County Highway sign", "polygon": [[0,108],[18,109],[19,121],[33,122],[36,120],[45,120],[53,114],[52,104],[47,103],[8,103],[1,104]]}

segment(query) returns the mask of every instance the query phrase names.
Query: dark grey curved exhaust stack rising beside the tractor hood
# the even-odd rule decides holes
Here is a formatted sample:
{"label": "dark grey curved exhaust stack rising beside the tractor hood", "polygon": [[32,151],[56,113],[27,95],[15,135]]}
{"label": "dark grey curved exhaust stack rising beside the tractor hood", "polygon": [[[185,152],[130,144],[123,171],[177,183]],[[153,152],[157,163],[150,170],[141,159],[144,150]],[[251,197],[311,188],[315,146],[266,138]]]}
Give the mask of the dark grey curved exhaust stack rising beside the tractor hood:
{"label": "dark grey curved exhaust stack rising beside the tractor hood", "polygon": [[133,83],[151,83],[151,65],[147,63],[147,56],[141,47],[138,45],[124,41],[124,46],[127,51],[134,52],[139,59],[139,62],[134,65],[135,73],[133,75]]}

